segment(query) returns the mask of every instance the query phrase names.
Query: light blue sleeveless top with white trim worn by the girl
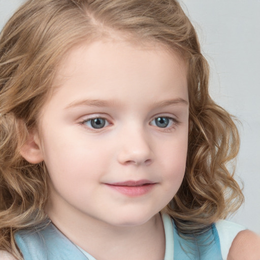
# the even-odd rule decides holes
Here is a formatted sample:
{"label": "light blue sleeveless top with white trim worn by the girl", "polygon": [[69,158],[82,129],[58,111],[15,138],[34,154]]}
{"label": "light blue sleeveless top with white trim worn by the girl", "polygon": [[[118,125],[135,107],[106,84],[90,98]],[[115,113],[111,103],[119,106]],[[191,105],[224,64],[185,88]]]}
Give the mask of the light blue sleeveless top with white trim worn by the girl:
{"label": "light blue sleeveless top with white trim worn by the girl", "polygon": [[[181,238],[169,215],[162,215],[166,237],[164,260],[226,260],[232,241],[243,226],[220,220],[211,229],[192,240]],[[73,244],[49,223],[44,228],[20,230],[15,241],[24,260],[96,260],[89,253]]]}

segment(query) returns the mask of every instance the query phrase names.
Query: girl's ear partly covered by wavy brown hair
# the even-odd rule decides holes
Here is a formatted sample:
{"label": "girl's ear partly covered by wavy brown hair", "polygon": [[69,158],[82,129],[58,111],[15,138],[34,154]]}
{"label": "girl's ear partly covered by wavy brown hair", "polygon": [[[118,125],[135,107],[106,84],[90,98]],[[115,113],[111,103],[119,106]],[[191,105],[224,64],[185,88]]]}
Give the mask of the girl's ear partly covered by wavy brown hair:
{"label": "girl's ear partly covered by wavy brown hair", "polygon": [[20,150],[22,157],[31,164],[39,164],[44,159],[39,135],[35,132],[31,131],[29,133],[27,141]]}

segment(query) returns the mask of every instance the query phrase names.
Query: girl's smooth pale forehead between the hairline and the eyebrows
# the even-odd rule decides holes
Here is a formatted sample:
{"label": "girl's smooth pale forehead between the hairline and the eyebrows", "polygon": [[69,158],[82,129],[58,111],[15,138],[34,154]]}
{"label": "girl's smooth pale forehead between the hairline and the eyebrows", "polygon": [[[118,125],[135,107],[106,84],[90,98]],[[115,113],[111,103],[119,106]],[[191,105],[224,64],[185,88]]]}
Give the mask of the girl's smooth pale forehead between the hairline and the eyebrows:
{"label": "girl's smooth pale forehead between the hairline and the eyebrows", "polygon": [[140,96],[149,91],[163,99],[170,89],[172,95],[179,91],[188,100],[186,78],[184,59],[161,44],[102,39],[83,42],[67,52],[59,63],[50,98],[59,92],[60,99],[62,93],[70,93],[75,100],[81,95],[106,99],[112,92],[115,99],[126,99],[129,91]]}

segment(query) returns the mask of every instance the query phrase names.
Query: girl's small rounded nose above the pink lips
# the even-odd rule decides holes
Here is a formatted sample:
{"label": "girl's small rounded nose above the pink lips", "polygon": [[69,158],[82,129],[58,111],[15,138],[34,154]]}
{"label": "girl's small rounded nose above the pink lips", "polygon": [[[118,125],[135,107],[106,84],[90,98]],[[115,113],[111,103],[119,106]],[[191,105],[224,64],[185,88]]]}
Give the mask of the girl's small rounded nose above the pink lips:
{"label": "girl's small rounded nose above the pink lips", "polygon": [[121,136],[118,161],[122,165],[150,165],[154,160],[151,140],[140,129],[127,131]]}

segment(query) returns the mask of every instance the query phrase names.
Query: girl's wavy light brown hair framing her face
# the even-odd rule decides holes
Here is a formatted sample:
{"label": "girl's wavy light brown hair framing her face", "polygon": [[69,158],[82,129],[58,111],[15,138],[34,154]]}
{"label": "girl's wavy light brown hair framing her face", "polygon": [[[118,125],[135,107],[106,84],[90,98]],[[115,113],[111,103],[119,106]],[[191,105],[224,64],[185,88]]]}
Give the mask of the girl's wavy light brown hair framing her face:
{"label": "girl's wavy light brown hair framing her face", "polygon": [[239,149],[232,116],[208,93],[209,69],[196,31],[175,0],[29,0],[0,35],[0,249],[21,258],[14,232],[46,218],[47,170],[20,155],[74,45],[120,35],[154,42],[187,64],[189,140],[181,187],[164,209],[183,236],[196,235],[242,203],[227,169]]}

